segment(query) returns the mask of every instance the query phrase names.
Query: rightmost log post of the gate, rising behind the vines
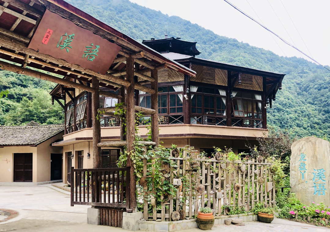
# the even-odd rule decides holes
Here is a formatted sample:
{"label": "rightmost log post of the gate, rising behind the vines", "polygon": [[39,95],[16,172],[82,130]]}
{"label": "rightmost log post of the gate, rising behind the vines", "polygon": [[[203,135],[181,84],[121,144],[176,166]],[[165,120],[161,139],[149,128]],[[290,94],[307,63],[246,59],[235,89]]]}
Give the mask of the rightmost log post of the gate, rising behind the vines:
{"label": "rightmost log post of the gate, rising behind the vines", "polygon": [[151,78],[155,79],[151,82],[151,88],[155,90],[154,94],[151,94],[151,109],[156,113],[151,115],[151,141],[156,143],[156,147],[159,145],[159,124],[158,124],[158,71],[157,69],[151,70]]}

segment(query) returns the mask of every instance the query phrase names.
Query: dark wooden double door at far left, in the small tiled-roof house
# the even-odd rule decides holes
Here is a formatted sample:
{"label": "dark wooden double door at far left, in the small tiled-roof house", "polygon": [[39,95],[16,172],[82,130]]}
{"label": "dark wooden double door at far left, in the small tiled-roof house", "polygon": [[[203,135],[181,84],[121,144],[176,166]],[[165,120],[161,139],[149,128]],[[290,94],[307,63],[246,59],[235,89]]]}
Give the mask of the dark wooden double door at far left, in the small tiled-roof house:
{"label": "dark wooden double door at far left, in the small tiled-roof house", "polygon": [[14,153],[14,182],[32,182],[32,153]]}

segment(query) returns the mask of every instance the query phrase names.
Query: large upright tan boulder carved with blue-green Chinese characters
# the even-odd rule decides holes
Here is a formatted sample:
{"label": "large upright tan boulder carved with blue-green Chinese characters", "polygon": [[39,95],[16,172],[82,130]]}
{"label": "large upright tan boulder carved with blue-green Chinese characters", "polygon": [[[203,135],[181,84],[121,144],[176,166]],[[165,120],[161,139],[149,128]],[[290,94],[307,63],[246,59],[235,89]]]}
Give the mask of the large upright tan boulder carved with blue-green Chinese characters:
{"label": "large upright tan boulder carved with blue-green Chinese characters", "polygon": [[306,205],[323,202],[330,206],[330,143],[306,137],[291,146],[291,192]]}

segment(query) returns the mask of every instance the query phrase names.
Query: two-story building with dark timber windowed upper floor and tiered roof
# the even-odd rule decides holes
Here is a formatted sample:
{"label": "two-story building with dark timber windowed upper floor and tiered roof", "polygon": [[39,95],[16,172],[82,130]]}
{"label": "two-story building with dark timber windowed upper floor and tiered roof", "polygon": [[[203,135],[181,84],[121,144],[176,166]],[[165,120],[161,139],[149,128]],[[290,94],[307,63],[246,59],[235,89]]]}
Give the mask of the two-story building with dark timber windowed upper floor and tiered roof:
{"label": "two-story building with dark timber windowed upper floor and tiered roof", "polygon": [[[248,143],[257,145],[256,138],[267,135],[266,109],[272,106],[285,74],[196,58],[200,54],[196,42],[179,38],[144,40],[143,44],[196,72],[196,77],[190,78],[172,69],[158,71],[159,138],[164,147],[190,145],[211,154],[215,146],[232,148],[235,153],[240,153],[247,151]],[[109,71],[124,74],[124,67],[125,63],[118,61]],[[136,68],[140,69],[139,66]],[[146,75],[150,76],[150,70]],[[139,76],[135,78],[150,87],[150,82]],[[124,95],[111,85],[104,85],[100,90]],[[90,158],[93,139],[91,95],[60,84],[50,94],[55,100],[65,99],[65,135],[63,141],[53,146],[63,146],[63,180],[66,182],[70,177],[68,167],[93,166]],[[115,106],[117,102],[120,100],[100,96],[100,108]],[[151,108],[150,94],[136,90],[135,103]],[[149,118],[144,117],[147,121]],[[101,116],[100,123],[102,141],[120,140],[117,117]],[[139,133],[147,137],[146,125],[140,125]],[[103,167],[116,167],[119,153],[118,148],[103,148]]]}

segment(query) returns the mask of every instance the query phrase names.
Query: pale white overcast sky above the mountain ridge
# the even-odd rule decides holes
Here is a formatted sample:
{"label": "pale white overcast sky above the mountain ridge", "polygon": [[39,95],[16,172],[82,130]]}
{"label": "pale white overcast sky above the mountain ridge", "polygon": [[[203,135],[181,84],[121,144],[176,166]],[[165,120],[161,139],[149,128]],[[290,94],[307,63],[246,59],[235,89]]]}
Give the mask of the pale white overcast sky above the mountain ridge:
{"label": "pale white overcast sky above the mountain ridge", "polygon": [[[179,16],[218,35],[235,38],[279,55],[307,58],[274,35],[270,35],[267,30],[223,0],[130,1],[169,16]],[[295,44],[322,65],[330,65],[329,0],[229,0],[229,2],[262,22],[291,44]]]}

